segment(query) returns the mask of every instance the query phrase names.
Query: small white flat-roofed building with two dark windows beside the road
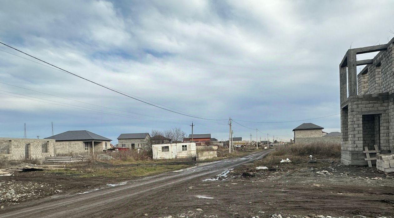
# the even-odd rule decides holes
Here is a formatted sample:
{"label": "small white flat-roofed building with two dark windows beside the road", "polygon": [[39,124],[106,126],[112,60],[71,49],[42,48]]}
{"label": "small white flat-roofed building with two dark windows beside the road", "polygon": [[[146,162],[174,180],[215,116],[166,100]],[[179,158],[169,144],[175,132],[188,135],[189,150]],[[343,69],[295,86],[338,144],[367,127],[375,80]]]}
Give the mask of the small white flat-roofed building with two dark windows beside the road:
{"label": "small white flat-roofed building with two dark windows beside the road", "polygon": [[196,143],[180,142],[152,145],[153,159],[195,158]]}

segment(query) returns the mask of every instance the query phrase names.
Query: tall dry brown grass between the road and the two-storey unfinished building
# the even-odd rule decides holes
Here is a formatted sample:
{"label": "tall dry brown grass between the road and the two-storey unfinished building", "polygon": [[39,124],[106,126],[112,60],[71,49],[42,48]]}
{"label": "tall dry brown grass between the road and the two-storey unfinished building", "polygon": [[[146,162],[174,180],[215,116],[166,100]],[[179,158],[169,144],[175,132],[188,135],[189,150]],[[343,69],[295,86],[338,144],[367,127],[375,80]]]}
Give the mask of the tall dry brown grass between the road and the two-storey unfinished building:
{"label": "tall dry brown grass between the road and the two-storey unfinished building", "polygon": [[300,159],[309,159],[309,155],[313,158],[336,157],[339,158],[341,154],[341,146],[338,143],[311,143],[311,144],[297,144],[284,145],[277,147],[274,151],[269,153],[266,158],[258,160],[254,163],[255,167],[273,167],[280,164],[282,159],[289,158],[295,162]]}

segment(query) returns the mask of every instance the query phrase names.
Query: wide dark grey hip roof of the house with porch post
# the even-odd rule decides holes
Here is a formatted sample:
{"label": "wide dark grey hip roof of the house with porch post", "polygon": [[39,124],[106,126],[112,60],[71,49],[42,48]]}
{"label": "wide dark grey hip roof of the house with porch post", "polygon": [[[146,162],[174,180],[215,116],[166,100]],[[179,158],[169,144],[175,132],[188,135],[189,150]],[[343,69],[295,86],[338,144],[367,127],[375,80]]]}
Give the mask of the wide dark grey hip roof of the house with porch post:
{"label": "wide dark grey hip roof of the house with porch post", "polygon": [[81,140],[98,140],[98,141],[112,141],[103,136],[94,134],[87,130],[74,130],[63,132],[45,139],[55,139],[56,141],[81,141]]}

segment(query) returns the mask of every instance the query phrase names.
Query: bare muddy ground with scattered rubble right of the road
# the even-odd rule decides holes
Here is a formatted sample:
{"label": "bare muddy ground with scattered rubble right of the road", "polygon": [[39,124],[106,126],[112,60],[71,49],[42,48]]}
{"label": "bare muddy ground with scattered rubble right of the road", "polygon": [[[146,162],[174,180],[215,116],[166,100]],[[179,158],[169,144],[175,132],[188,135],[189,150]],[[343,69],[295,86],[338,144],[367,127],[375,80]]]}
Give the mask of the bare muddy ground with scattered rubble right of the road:
{"label": "bare muddy ground with scattered rubble right of the road", "polygon": [[[175,217],[393,217],[393,178],[339,159],[307,161],[272,171],[248,164],[230,171],[227,180],[195,181],[174,197],[192,203]],[[180,209],[174,208],[180,202],[172,203],[168,207]]]}

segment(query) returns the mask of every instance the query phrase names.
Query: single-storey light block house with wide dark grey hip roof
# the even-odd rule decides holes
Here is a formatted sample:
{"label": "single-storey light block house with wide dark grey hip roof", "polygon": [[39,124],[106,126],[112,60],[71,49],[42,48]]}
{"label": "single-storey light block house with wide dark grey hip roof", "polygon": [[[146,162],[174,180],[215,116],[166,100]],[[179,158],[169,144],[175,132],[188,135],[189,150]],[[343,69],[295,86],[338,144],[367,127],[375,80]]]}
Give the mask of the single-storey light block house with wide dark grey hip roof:
{"label": "single-storey light block house with wide dark grey hip roof", "polygon": [[45,139],[55,139],[55,155],[90,155],[110,148],[111,139],[87,130],[67,131]]}

